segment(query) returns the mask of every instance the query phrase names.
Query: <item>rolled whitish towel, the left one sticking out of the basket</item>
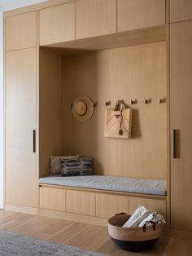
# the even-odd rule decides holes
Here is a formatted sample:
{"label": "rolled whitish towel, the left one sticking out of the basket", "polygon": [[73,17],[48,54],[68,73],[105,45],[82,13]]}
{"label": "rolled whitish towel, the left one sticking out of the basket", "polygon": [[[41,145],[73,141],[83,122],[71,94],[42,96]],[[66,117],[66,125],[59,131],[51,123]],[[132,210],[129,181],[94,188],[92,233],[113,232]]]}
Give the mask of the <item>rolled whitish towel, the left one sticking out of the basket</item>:
{"label": "rolled whitish towel, the left one sticking out of the basket", "polygon": [[146,207],[139,205],[122,227],[137,227],[138,223],[141,223],[142,220],[148,217],[150,214],[151,212],[147,210]]}

